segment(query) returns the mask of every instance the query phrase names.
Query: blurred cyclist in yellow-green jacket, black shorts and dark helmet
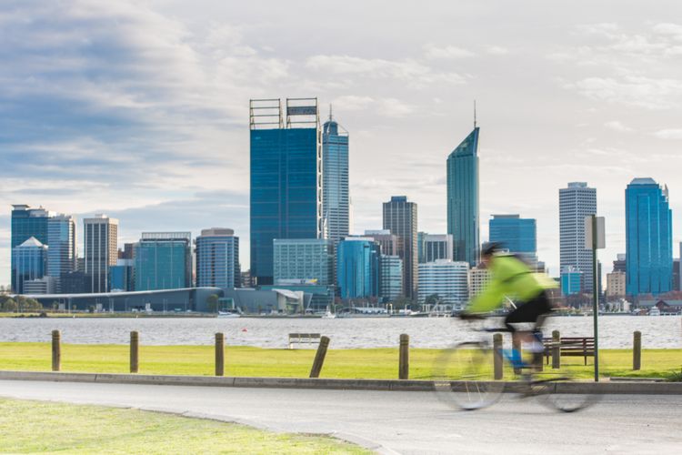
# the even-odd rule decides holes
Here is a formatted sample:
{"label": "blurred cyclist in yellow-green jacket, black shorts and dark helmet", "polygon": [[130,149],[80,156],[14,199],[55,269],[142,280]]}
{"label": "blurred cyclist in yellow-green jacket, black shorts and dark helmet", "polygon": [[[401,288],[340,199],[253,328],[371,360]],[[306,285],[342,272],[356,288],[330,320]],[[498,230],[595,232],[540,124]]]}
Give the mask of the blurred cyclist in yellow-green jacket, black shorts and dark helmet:
{"label": "blurred cyclist in yellow-green jacket, black shorts and dark helmet", "polygon": [[[481,266],[490,272],[490,282],[462,313],[462,319],[480,317],[502,306],[507,296],[516,298],[517,308],[505,318],[505,326],[512,333],[515,344],[526,342],[528,350],[536,356],[544,350],[541,339],[533,336],[542,327],[545,315],[552,311],[547,289],[557,288],[557,282],[544,273],[537,273],[515,255],[503,253],[500,244],[491,242],[481,251]],[[533,329],[518,330],[517,323],[532,323]],[[514,361],[520,363],[520,353],[515,349]],[[537,357],[534,357],[537,361]]]}

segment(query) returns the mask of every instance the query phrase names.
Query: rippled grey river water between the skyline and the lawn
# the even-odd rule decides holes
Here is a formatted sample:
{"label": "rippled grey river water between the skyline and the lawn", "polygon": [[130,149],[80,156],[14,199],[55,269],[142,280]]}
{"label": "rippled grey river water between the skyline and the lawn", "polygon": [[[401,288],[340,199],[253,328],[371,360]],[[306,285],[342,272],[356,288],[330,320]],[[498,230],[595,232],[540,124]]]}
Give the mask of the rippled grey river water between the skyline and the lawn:
{"label": "rippled grey river water between the skyline and the lawn", "polygon": [[[401,333],[415,348],[443,348],[472,339],[467,325],[449,318],[353,319],[0,319],[0,342],[49,341],[53,329],[65,343],[125,344],[130,331],[140,332],[147,345],[209,345],[223,332],[228,345],[285,348],[291,332],[317,332],[331,339],[331,347],[396,347]],[[591,317],[549,319],[546,336],[558,329],[562,336],[592,336]],[[632,332],[642,332],[644,348],[682,348],[682,321],[675,316],[602,316],[599,345],[630,348]]]}

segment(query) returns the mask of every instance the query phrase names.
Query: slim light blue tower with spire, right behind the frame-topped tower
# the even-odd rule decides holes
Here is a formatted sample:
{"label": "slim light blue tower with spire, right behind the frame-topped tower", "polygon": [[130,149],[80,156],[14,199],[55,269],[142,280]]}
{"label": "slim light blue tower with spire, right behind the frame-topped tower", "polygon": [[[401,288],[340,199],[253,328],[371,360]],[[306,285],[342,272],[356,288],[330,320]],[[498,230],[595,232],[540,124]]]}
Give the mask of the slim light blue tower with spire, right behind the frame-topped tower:
{"label": "slim light blue tower with spire, right behind the frame-topped tower", "polygon": [[348,235],[348,133],[332,118],[322,126],[322,217],[326,238],[336,243]]}

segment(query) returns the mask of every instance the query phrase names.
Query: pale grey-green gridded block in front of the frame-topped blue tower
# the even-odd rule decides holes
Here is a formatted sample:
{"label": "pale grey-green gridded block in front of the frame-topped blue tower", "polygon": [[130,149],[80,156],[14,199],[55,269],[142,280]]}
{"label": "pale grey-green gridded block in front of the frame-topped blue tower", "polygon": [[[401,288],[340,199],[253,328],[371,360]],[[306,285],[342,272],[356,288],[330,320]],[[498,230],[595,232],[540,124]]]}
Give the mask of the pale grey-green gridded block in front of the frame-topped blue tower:
{"label": "pale grey-green gridded block in front of the frame-topped blue tower", "polygon": [[334,244],[327,238],[276,238],[275,284],[334,284]]}

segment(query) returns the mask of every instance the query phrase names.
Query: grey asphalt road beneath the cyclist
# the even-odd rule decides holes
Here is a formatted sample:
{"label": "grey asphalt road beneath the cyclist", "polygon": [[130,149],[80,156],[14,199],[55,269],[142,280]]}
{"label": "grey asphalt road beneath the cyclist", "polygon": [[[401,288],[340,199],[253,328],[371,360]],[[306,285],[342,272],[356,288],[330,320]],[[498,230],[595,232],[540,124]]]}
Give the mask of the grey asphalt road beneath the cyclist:
{"label": "grey asphalt road beneath the cyclist", "polygon": [[612,395],[563,414],[506,396],[454,411],[428,392],[239,389],[0,380],[0,396],[202,414],[337,433],[389,453],[682,453],[682,396]]}

